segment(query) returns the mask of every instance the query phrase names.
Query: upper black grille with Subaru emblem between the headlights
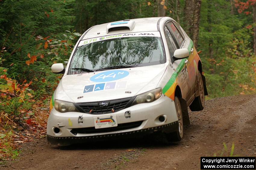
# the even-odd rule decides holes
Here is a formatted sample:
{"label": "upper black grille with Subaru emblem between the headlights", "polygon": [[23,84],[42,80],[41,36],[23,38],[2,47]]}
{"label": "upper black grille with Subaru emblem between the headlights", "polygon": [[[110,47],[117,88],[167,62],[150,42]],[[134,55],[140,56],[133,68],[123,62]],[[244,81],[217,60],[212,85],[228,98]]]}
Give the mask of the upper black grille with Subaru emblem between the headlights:
{"label": "upper black grille with Subaru emblem between the headlights", "polygon": [[119,110],[130,107],[135,97],[129,97],[124,99],[109,100],[104,102],[109,102],[108,106],[100,107],[98,103],[100,102],[89,102],[89,103],[75,103],[76,108],[80,112],[90,113],[90,114],[105,114],[113,113]]}

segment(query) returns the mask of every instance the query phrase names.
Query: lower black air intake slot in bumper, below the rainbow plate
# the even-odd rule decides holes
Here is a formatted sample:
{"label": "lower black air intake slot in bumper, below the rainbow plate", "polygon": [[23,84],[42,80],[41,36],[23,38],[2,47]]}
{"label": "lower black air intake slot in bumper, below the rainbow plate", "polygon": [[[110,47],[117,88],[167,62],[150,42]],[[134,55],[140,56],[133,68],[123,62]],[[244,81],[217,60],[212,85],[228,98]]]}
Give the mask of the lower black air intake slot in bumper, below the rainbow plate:
{"label": "lower black air intake slot in bumper, below the rainbow plate", "polygon": [[108,127],[108,128],[102,128],[102,129],[95,129],[95,127],[75,128],[75,129],[72,129],[70,132],[73,133],[74,135],[76,135],[77,133],[90,134],[90,133],[114,132],[118,130],[126,130],[126,129],[139,127],[142,124],[142,122],[143,121],[123,123],[123,124],[118,124],[116,127]]}

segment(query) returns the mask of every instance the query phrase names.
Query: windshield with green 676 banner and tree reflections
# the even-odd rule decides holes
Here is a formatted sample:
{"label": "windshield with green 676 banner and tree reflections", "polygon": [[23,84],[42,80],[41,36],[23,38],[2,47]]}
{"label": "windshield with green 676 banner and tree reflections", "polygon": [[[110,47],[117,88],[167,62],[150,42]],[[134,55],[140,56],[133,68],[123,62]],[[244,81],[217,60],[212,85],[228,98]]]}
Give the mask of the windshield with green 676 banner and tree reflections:
{"label": "windshield with green 676 banner and tree reflections", "polygon": [[[129,37],[123,37],[123,35]],[[136,35],[139,37],[134,37]],[[155,37],[152,37],[153,35]],[[80,41],[70,62],[69,74],[87,72],[86,70],[165,63],[160,33],[155,32],[153,35],[117,34]],[[121,36],[122,38],[116,38]]]}

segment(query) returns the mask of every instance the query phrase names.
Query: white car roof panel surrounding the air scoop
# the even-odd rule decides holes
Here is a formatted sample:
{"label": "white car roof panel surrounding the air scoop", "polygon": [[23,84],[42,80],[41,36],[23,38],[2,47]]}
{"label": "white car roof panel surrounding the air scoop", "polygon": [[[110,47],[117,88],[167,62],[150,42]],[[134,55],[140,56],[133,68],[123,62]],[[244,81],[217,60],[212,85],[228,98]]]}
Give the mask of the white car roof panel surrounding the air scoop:
{"label": "white car roof panel surrounding the air scoop", "polygon": [[[81,40],[85,40],[93,37],[113,35],[113,34],[123,34],[123,33],[142,32],[142,31],[158,31],[157,22],[160,18],[161,17],[130,19],[130,21],[135,22],[135,27],[131,31],[128,29],[123,29],[123,30],[110,31],[107,33],[107,26],[109,23],[123,22],[123,20],[95,25],[89,28],[89,31],[87,30],[88,32],[84,35],[84,37]],[[120,24],[120,26],[123,26],[123,25]]]}

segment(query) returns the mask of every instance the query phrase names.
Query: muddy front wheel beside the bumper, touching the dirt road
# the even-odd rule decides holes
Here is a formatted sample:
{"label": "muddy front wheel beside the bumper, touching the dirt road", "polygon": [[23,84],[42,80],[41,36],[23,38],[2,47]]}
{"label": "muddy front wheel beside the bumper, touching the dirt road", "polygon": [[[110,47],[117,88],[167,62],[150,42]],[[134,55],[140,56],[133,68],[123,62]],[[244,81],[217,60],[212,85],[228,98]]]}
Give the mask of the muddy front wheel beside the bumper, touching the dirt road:
{"label": "muddy front wheel beside the bumper, touching the dirt road", "polygon": [[178,130],[176,132],[167,133],[166,139],[168,142],[178,142],[183,137],[183,119],[182,119],[182,109],[180,105],[180,100],[178,97],[174,98],[174,103],[176,107],[176,112],[178,116]]}

